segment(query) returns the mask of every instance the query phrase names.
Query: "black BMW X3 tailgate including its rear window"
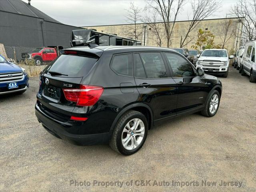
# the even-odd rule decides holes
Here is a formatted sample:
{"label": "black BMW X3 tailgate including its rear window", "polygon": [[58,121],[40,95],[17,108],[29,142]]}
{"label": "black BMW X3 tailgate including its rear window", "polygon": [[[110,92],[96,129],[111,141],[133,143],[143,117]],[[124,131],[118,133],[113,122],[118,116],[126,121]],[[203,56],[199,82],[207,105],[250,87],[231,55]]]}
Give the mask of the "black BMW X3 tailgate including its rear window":
{"label": "black BMW X3 tailgate including its rear window", "polygon": [[97,60],[98,58],[74,54],[61,55],[48,65],[40,75],[41,82],[37,94],[41,110],[59,120],[69,119],[76,103],[65,98],[63,89],[79,88],[83,76]]}

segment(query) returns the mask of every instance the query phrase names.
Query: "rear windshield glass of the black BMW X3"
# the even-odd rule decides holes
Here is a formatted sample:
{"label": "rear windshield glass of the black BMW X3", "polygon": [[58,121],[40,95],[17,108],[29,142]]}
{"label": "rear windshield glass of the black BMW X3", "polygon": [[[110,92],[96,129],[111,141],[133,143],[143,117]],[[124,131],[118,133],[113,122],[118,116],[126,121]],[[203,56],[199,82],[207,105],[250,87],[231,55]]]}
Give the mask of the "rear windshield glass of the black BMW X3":
{"label": "rear windshield glass of the black BMW X3", "polygon": [[61,55],[53,64],[47,67],[47,71],[58,72],[67,77],[83,77],[98,58],[76,56],[76,55]]}

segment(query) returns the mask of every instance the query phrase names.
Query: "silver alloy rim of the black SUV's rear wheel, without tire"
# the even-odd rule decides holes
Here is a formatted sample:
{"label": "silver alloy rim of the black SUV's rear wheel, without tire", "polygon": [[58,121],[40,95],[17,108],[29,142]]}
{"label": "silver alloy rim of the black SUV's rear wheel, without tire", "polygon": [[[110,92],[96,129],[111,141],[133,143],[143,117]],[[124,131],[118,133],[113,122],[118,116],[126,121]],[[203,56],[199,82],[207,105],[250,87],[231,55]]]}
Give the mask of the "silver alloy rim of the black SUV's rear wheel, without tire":
{"label": "silver alloy rim of the black SUV's rear wheel, without tire", "polygon": [[130,120],[122,132],[122,145],[126,150],[136,149],[145,135],[145,126],[142,120]]}

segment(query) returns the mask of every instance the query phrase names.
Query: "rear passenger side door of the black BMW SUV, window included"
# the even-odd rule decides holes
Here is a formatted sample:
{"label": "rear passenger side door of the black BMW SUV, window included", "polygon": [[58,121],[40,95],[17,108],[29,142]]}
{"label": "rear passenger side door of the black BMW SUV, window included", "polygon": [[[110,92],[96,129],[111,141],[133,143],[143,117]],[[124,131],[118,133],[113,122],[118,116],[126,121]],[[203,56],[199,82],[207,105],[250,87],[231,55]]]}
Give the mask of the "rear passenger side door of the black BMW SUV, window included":
{"label": "rear passenger side door of the black BMW SUV, window included", "polygon": [[133,54],[134,79],[141,100],[148,104],[154,120],[176,115],[177,88],[161,52]]}

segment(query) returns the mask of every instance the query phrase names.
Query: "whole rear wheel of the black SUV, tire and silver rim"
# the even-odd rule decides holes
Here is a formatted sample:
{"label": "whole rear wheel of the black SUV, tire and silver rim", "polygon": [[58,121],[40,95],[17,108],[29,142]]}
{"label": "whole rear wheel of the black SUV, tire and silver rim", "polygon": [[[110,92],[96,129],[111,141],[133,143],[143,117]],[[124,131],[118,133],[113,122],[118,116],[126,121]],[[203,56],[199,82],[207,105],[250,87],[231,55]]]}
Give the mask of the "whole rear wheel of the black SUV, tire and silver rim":
{"label": "whole rear wheel of the black SUV, tire and silver rim", "polygon": [[[138,124],[137,128],[135,128],[134,131],[134,129],[132,129],[132,126],[134,125],[136,120],[140,123]],[[136,130],[141,130],[140,132],[138,132],[138,134],[144,133],[143,136],[136,137]],[[136,153],[138,150],[140,150],[140,148],[143,146],[147,138],[147,135],[148,120],[146,119],[146,117],[138,111],[129,110],[123,116],[121,116],[118,122],[116,123],[112,137],[109,141],[109,145],[113,150],[120,154],[132,155]],[[134,139],[136,140],[136,142],[138,142],[137,146],[132,146],[132,143],[134,143]]]}

